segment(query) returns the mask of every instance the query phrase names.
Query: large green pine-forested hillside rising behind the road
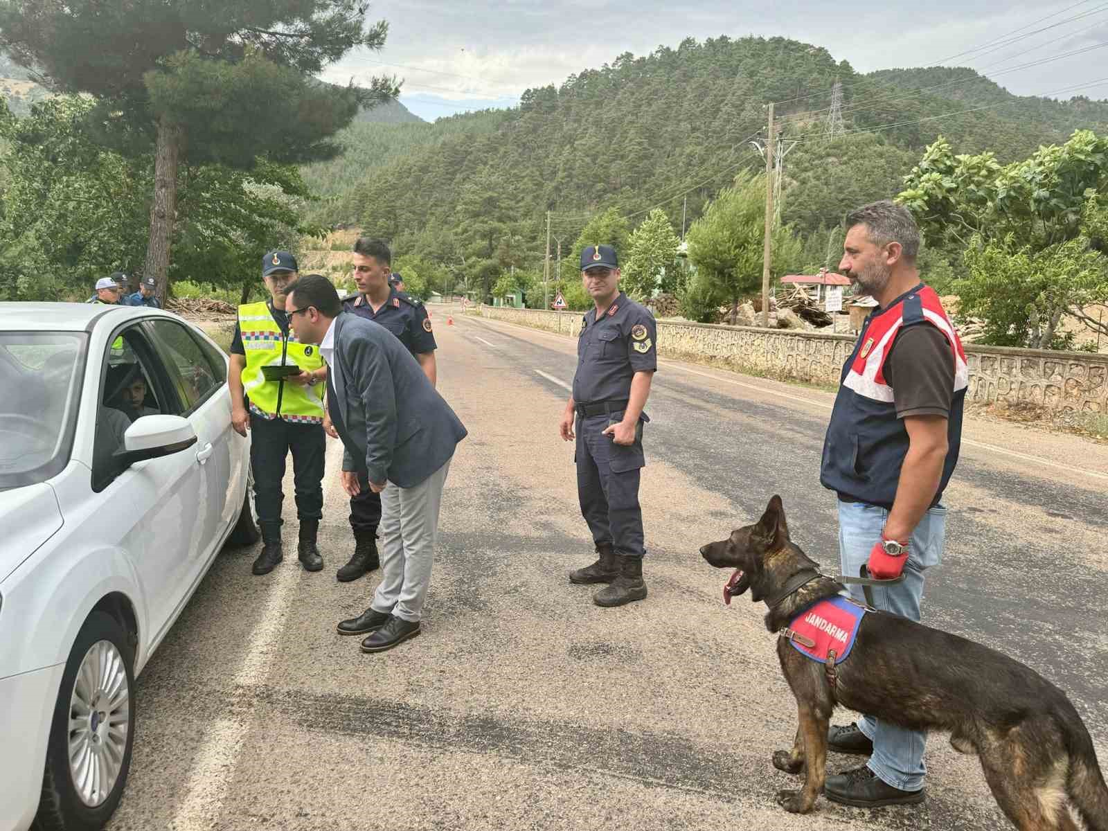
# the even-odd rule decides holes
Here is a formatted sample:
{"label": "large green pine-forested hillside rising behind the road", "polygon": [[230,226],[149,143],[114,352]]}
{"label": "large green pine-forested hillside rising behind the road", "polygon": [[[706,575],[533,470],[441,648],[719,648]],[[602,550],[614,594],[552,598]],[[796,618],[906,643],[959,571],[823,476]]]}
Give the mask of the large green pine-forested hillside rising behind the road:
{"label": "large green pine-forested hillside rising behind the road", "polygon": [[[837,80],[842,124],[832,137]],[[683,209],[690,224],[736,173],[762,166],[748,138],[765,132],[771,101],[784,138],[798,142],[786,157],[782,219],[800,234],[895,194],[940,134],[956,152],[1007,162],[1077,126],[1108,126],[1104,102],[1017,98],[972,70],[860,75],[825,49],[782,38],[686,39],[529,90],[512,110],[351,127],[346,156],[306,177],[330,197],[316,218],[389,238],[488,290],[511,266],[541,264],[547,211],[567,248],[613,207],[634,227],[659,206],[679,232]]]}

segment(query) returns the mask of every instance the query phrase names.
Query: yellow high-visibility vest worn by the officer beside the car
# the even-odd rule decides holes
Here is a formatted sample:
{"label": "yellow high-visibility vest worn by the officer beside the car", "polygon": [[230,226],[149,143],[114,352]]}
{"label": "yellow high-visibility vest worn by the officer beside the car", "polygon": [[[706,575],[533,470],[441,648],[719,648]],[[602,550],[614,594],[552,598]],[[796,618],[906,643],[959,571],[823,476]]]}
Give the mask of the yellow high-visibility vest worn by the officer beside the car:
{"label": "yellow high-visibility vest worn by the officer beside the car", "polygon": [[246,351],[243,388],[250,404],[267,416],[278,416],[286,421],[322,423],[326,384],[301,387],[286,381],[267,381],[261,375],[266,366],[295,363],[306,372],[319,369],[324,366],[319,347],[301,343],[291,330],[285,337],[265,302],[239,306],[238,329]]}

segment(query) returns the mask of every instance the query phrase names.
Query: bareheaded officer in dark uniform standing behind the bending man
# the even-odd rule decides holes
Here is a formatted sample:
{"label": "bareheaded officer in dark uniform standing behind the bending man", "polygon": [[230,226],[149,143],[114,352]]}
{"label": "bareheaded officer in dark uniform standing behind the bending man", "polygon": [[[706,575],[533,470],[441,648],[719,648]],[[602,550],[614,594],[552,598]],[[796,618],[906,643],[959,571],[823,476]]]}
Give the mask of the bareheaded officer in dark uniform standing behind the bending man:
{"label": "bareheaded officer in dark uniform standing behind the bending man", "polygon": [[[392,273],[392,253],[380,239],[359,237],[353,244],[353,280],[358,293],[343,298],[342,308],[355,315],[380,324],[404,345],[419,362],[433,387],[435,383],[434,335],[431,318],[423,304],[397,288]],[[401,284],[402,285],[402,284]],[[329,435],[338,433],[328,420]],[[381,522],[381,495],[363,489],[350,497],[350,527],[353,530],[355,550],[350,562],[339,568],[337,577],[357,579],[380,565],[377,552],[377,526]]]}

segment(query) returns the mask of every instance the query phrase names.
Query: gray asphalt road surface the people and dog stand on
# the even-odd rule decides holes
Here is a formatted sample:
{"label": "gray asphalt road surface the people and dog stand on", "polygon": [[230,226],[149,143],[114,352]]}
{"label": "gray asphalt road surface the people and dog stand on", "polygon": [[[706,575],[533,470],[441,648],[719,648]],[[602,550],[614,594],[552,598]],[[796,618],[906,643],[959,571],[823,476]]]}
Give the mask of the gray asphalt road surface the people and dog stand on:
{"label": "gray asphalt road surface the people and dog stand on", "polygon": [[[774,638],[697,550],[784,500],[794,540],[838,560],[819,485],[832,397],[663,361],[646,429],[649,597],[601,609],[566,572],[592,561],[573,448],[557,437],[575,345],[434,317],[440,390],[470,430],[447,482],[423,634],[362,655],[335,624],[377,573],[339,584],[351,546],[330,442],[321,550],[254,577],[225,552],[137,684],[134,829],[1005,829],[972,757],[929,743],[922,807],[820,799],[784,813],[774,770],[796,708]],[[947,491],[925,620],[1018,657],[1067,690],[1108,768],[1108,448],[970,420]],[[290,479],[290,476],[289,476]],[[841,714],[840,721],[849,720]],[[829,769],[855,765],[831,755]]]}

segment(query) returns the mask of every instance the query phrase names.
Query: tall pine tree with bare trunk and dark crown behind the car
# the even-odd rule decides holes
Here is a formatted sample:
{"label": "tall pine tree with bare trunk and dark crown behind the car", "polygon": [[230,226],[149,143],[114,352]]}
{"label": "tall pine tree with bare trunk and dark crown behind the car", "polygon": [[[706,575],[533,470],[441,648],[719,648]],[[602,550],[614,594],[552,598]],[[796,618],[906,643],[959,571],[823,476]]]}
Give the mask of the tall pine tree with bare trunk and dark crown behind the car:
{"label": "tall pine tree with bare trunk and dark crown behind the car", "polygon": [[164,297],[179,164],[326,158],[361,104],[396,98],[391,79],[358,91],[312,78],[381,48],[387,23],[365,17],[357,0],[0,0],[0,47],[50,89],[92,95],[104,144],[155,146],[144,274]]}

